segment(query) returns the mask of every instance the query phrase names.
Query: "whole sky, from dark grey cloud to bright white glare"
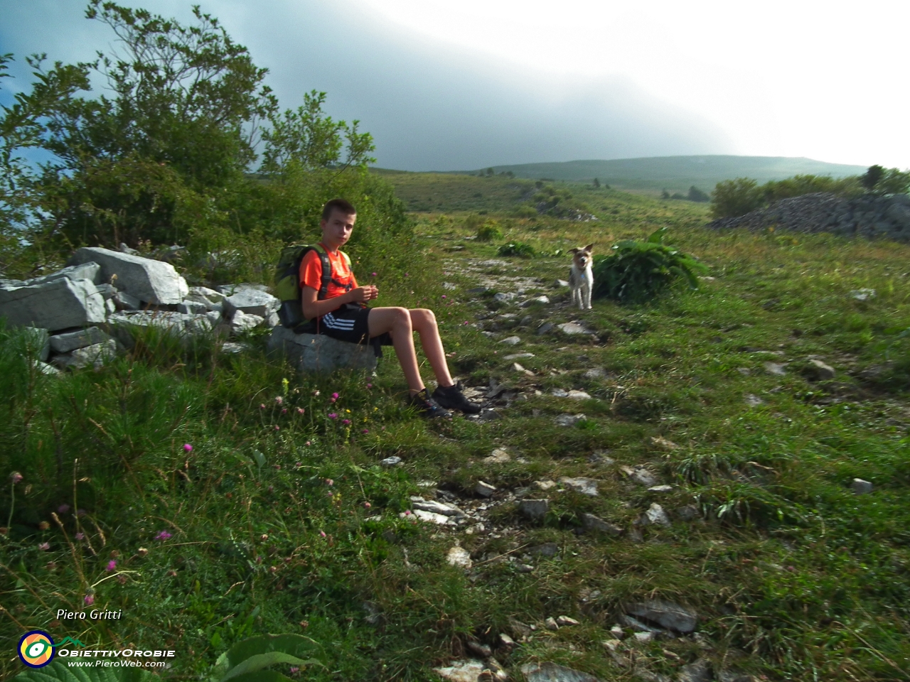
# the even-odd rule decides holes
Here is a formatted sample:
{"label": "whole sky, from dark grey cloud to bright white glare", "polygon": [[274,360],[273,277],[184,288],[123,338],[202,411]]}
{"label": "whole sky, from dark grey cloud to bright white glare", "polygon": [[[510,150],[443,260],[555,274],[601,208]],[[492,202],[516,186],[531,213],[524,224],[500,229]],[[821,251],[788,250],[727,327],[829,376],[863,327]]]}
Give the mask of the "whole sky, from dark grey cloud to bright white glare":
{"label": "whole sky, from dark grey cloud to bright white glare", "polygon": [[[197,0],[268,67],[359,119],[377,165],[664,155],[806,156],[910,167],[910,3],[871,0]],[[190,2],[121,0],[191,19]],[[106,26],[80,0],[0,0],[0,54],[90,59]],[[842,8],[843,7],[843,8]]]}

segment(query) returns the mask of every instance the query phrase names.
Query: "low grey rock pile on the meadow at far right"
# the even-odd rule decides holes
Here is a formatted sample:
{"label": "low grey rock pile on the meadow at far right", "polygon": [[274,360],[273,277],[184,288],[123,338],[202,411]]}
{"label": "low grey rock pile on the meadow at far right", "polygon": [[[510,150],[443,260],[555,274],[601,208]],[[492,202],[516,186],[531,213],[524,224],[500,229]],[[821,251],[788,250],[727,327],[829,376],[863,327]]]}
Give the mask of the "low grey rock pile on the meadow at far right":
{"label": "low grey rock pile on the meadow at far right", "polygon": [[708,224],[715,229],[768,227],[797,232],[885,237],[910,241],[910,196],[860,196],[847,199],[828,192],[782,199],[773,206],[745,216],[721,218]]}

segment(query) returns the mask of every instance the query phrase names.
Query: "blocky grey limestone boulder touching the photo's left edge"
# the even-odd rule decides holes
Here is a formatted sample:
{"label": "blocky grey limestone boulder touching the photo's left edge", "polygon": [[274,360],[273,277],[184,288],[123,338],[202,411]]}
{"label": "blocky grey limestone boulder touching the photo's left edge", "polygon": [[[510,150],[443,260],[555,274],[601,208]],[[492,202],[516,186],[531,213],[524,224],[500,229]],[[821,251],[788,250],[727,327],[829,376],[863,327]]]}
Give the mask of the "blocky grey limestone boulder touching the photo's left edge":
{"label": "blocky grey limestone boulder touching the photo's left edge", "polygon": [[104,322],[104,296],[88,279],[66,277],[29,286],[0,287],[0,316],[10,326],[50,331]]}

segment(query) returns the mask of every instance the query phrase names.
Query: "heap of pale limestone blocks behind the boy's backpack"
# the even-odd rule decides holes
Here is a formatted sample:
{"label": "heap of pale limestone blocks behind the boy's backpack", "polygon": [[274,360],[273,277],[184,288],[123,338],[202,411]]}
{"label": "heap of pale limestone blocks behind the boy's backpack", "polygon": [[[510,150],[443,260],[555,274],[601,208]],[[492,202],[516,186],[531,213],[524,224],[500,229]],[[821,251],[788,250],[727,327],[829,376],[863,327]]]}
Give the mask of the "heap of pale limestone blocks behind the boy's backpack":
{"label": "heap of pale limestone blocks behind the boy's backpack", "polygon": [[60,367],[104,364],[129,346],[130,327],[229,336],[278,326],[279,306],[263,285],[187,286],[169,263],[100,247],[78,249],[51,275],[0,279],[0,316],[33,327],[42,361]]}

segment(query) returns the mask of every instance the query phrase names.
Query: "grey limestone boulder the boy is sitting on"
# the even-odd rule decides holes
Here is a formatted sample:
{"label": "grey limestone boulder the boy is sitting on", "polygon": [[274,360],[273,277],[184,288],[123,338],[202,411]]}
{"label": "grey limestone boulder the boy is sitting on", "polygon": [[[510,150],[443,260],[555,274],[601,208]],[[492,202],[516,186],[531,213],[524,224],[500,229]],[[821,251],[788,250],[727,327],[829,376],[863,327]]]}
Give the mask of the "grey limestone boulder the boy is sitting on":
{"label": "grey limestone boulder the boy is sitting on", "polygon": [[324,334],[294,334],[285,326],[276,326],[268,339],[270,354],[284,355],[300,372],[331,372],[341,367],[376,368],[376,355],[371,346],[350,344]]}

